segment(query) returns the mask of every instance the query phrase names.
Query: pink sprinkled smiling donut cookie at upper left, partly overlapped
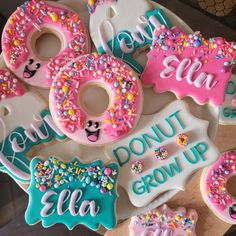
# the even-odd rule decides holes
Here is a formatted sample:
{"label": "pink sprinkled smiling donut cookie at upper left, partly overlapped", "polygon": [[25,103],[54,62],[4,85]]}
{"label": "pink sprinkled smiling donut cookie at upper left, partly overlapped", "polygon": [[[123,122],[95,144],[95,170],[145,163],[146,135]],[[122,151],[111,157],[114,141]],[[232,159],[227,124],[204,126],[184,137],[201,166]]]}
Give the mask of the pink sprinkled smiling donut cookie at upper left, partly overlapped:
{"label": "pink sprinkled smiling donut cookie at upper left, partly overlapped", "polygon": [[[61,41],[59,55],[42,58],[36,40],[45,33]],[[88,52],[89,39],[84,23],[72,10],[58,3],[32,0],[11,15],[2,34],[7,66],[26,83],[49,88],[55,74],[71,58]],[[45,73],[46,72],[46,73]]]}

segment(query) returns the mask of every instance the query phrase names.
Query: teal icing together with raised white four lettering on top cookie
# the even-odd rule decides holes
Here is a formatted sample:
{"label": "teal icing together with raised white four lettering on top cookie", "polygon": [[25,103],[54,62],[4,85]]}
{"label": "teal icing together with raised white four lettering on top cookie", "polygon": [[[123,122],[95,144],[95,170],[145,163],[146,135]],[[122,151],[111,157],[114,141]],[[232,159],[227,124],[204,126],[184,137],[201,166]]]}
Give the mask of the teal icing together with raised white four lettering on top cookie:
{"label": "teal icing together with raised white four lettering on top cookie", "polygon": [[[110,53],[115,57],[121,58],[136,72],[141,74],[143,66],[134,58],[135,50],[152,44],[152,34],[157,26],[166,25],[171,28],[172,25],[165,12],[161,9],[148,11],[146,16],[140,16],[139,20],[141,24],[136,25],[135,32],[121,31],[117,35],[112,35],[108,42],[102,34],[101,27],[99,27],[98,34],[100,35],[101,46],[98,48],[98,52],[101,54]],[[109,26],[113,32],[113,25],[109,24]]]}

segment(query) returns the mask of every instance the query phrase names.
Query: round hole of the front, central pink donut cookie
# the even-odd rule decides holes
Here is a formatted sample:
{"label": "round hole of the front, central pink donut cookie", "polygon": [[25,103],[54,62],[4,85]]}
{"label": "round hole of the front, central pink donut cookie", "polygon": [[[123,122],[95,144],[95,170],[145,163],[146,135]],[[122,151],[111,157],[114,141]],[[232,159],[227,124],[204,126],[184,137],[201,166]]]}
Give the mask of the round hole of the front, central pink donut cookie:
{"label": "round hole of the front, central pink donut cookie", "polygon": [[111,96],[105,85],[89,83],[81,89],[78,102],[89,114],[99,116],[110,107]]}

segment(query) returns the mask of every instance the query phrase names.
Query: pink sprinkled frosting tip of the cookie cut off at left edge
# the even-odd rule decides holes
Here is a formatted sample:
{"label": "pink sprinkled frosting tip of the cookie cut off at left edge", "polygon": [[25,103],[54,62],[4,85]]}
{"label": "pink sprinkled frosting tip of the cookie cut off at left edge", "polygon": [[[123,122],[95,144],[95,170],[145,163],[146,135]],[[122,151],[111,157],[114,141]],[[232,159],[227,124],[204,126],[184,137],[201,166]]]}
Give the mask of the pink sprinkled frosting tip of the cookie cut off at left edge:
{"label": "pink sprinkled frosting tip of the cookie cut off at left edge", "polygon": [[5,98],[21,96],[24,93],[24,86],[9,71],[0,69],[0,101]]}

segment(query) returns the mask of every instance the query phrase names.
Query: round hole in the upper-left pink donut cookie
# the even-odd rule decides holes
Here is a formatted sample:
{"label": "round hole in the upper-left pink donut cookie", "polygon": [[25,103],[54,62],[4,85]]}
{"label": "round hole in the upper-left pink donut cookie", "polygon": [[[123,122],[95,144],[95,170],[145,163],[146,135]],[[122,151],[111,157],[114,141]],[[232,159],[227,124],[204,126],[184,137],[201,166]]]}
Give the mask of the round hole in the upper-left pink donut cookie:
{"label": "round hole in the upper-left pink donut cookie", "polygon": [[50,30],[44,30],[35,39],[34,48],[37,57],[42,60],[49,60],[60,53],[62,49],[62,41],[59,35],[50,32]]}

